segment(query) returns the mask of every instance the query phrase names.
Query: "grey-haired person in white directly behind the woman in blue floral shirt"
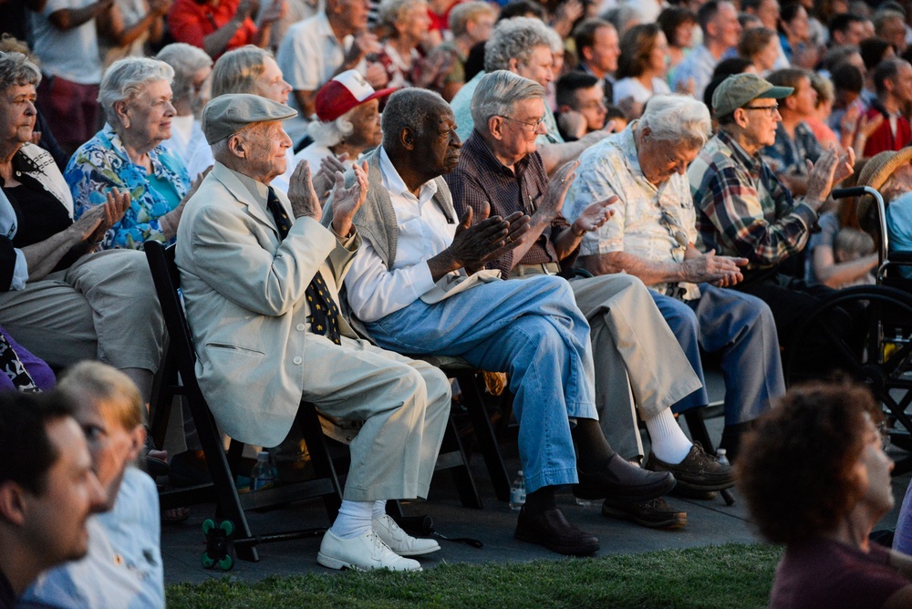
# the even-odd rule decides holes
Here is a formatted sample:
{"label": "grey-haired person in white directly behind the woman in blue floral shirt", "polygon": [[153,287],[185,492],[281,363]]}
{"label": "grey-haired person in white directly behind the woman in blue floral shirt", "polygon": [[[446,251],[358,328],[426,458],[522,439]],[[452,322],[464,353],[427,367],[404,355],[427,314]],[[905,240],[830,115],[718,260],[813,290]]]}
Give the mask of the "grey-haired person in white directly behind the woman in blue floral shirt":
{"label": "grey-haired person in white directly behind the woman in blue floral shirt", "polygon": [[196,46],[175,42],[165,46],[155,56],[174,69],[171,104],[177,114],[171,119],[171,139],[161,145],[180,157],[185,167],[190,166],[193,152],[191,142],[204,141],[202,135],[202,108],[209,101],[212,79],[212,57]]}

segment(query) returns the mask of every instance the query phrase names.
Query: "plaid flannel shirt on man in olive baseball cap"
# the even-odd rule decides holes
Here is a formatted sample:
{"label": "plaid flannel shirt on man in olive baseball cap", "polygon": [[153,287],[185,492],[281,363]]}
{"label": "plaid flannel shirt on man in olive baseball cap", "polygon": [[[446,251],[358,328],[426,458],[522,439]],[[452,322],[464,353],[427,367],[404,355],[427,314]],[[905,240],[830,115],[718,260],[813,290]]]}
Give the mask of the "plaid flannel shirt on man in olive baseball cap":
{"label": "plaid flannel shirt on man in olive baseball cap", "polygon": [[800,253],[817,214],[720,130],[688,170],[699,212],[700,249],[741,256],[748,269],[768,268]]}

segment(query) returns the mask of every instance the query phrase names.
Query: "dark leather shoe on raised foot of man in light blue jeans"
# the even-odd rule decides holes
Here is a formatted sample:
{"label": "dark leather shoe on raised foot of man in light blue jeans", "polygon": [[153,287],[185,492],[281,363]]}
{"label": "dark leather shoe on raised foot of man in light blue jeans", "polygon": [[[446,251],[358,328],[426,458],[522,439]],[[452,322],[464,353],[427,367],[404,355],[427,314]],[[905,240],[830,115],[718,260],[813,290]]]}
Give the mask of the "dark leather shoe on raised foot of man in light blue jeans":
{"label": "dark leather shoe on raised foot of man in light blue jeans", "polygon": [[644,470],[618,455],[612,457],[602,471],[577,470],[576,473],[579,484],[574,485],[573,494],[580,499],[612,497],[624,501],[649,501],[675,488],[675,477],[667,471]]}

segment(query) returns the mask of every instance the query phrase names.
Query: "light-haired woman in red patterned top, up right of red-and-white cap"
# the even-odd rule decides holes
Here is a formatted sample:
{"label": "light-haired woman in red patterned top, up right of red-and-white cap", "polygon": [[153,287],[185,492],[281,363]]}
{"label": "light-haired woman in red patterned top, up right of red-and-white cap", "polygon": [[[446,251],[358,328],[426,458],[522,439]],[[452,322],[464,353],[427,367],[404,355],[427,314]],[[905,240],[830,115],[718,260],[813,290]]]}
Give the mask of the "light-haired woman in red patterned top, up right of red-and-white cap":
{"label": "light-haired woman in red patterned top, up right of red-and-white cap", "polygon": [[[388,86],[410,87],[419,79],[418,46],[428,35],[430,15],[424,0],[383,0],[379,9],[383,53],[379,62],[387,69]],[[386,36],[382,36],[386,35]]]}

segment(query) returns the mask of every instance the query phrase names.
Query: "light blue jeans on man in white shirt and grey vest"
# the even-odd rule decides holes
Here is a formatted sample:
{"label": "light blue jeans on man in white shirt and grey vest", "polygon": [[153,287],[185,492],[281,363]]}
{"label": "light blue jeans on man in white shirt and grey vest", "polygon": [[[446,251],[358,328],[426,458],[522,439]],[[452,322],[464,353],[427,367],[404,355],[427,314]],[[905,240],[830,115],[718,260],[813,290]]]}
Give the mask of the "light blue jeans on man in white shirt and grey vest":
{"label": "light blue jeans on man in white shirt and grey vest", "polygon": [[480,284],[434,305],[416,300],[367,328],[402,354],[461,356],[506,372],[526,490],[575,484],[569,418],[598,416],[589,325],[564,279]]}

